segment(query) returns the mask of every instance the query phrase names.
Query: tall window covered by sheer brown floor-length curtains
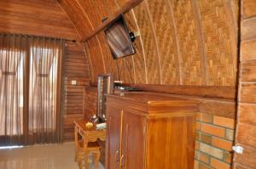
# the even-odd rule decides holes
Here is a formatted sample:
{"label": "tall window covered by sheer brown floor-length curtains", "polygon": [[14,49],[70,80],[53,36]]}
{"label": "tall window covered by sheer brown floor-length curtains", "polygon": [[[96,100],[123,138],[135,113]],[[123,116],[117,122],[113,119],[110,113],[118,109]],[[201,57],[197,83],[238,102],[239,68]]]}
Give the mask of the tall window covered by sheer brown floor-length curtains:
{"label": "tall window covered by sheer brown floor-length curtains", "polygon": [[63,43],[0,34],[0,145],[61,141]]}

